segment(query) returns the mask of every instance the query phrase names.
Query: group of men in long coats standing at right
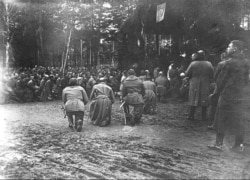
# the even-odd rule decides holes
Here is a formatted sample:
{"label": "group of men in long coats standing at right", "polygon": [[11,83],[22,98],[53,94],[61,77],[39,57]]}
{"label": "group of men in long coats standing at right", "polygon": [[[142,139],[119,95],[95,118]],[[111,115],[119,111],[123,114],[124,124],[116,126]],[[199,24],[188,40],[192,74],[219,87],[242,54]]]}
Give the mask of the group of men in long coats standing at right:
{"label": "group of men in long coats standing at right", "polygon": [[245,50],[242,41],[231,41],[216,68],[205,61],[204,51],[198,51],[192,55],[193,62],[185,72],[190,83],[188,119],[194,120],[196,108],[201,107],[201,119],[208,117],[208,128],[216,131],[215,143],[208,145],[210,149],[223,150],[226,133],[235,135],[233,150],[244,149],[245,127],[249,123],[244,116],[249,91],[249,62]]}

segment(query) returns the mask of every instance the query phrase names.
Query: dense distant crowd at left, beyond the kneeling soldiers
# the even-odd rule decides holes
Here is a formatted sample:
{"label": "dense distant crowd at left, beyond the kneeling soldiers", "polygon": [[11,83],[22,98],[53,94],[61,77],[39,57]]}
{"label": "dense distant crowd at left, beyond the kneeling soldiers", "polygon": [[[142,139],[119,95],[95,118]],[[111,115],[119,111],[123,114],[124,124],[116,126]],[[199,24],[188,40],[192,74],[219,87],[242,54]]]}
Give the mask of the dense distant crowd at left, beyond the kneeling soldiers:
{"label": "dense distant crowd at left, beyond the kneeling soldiers", "polygon": [[99,77],[107,77],[115,92],[119,91],[120,72],[109,67],[69,68],[62,72],[58,67],[8,68],[1,75],[1,104],[10,102],[36,102],[61,99],[62,90],[71,78],[77,79],[90,95]]}

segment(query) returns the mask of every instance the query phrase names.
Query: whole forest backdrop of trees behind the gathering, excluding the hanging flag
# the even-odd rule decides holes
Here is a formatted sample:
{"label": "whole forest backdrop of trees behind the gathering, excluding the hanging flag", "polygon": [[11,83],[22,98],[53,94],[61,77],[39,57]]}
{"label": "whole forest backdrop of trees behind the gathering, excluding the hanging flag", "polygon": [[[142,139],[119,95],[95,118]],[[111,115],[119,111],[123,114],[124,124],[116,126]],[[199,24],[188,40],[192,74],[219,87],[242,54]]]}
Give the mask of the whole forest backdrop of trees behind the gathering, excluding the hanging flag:
{"label": "whole forest backdrop of trees behind the gathering, excluding the hanging flag", "polygon": [[247,0],[2,0],[0,62],[150,68],[204,49],[216,63],[230,40],[249,44],[241,27],[249,7]]}

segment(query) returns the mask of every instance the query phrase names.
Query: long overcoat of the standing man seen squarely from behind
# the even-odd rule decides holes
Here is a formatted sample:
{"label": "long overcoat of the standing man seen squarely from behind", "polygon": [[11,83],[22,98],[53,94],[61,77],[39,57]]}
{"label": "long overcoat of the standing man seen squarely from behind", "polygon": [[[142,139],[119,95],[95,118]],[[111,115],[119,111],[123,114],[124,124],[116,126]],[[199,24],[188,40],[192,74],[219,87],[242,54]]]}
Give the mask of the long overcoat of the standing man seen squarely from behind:
{"label": "long overcoat of the standing man seen squarely from behind", "polygon": [[190,79],[189,105],[207,106],[214,75],[212,64],[209,61],[193,61],[185,74]]}

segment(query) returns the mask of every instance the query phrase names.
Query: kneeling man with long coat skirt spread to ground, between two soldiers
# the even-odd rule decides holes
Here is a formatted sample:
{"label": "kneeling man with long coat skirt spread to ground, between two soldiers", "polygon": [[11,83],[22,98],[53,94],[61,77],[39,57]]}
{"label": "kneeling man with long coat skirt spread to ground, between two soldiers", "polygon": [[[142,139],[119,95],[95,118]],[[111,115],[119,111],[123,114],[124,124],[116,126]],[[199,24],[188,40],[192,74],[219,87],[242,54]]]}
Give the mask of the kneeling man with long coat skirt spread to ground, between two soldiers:
{"label": "kneeling man with long coat skirt spread to ground, between two soldiers", "polygon": [[111,123],[111,110],[115,96],[112,88],[106,84],[106,78],[99,78],[97,82],[90,94],[93,102],[90,105],[89,116],[94,125],[104,127]]}

